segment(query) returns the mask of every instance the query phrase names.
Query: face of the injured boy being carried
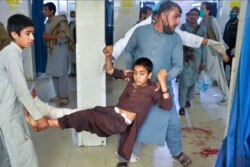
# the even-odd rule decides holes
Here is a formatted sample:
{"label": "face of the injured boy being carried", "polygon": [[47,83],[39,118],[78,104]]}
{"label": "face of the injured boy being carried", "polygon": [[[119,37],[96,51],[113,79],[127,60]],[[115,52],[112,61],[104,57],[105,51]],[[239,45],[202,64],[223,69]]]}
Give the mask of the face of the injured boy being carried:
{"label": "face of the injured boy being carried", "polygon": [[141,65],[134,66],[133,78],[136,86],[145,86],[150,79],[151,73]]}

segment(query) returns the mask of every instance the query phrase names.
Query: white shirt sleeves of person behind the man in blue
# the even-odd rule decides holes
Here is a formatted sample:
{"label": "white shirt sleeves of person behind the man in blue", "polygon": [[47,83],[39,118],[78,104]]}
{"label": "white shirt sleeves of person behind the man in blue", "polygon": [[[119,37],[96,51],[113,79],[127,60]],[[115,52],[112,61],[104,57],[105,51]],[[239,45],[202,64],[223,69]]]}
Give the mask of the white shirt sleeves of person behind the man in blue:
{"label": "white shirt sleeves of person behind the man in blue", "polygon": [[[134,30],[137,27],[143,26],[146,24],[151,24],[151,23],[152,23],[152,17],[149,16],[146,20],[141,21],[140,23],[134,25],[130,30],[128,30],[125,36],[114,44],[113,53],[112,53],[113,57],[117,59],[119,56],[121,56],[130,37],[132,36]],[[193,47],[193,48],[199,48],[201,46],[203,37],[188,33],[186,31],[182,31],[180,30],[179,27],[177,27],[175,31],[180,35],[183,45]]]}

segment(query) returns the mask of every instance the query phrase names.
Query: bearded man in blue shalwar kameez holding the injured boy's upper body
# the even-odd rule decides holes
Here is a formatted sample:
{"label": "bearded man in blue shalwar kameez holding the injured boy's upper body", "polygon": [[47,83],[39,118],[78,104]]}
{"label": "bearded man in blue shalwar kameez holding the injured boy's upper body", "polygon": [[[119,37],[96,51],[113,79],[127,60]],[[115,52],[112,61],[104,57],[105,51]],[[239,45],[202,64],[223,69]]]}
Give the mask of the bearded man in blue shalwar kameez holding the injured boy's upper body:
{"label": "bearded man in blue shalwar kameez holding the injured boy's upper body", "polygon": [[[163,2],[158,10],[157,22],[138,27],[124,50],[128,68],[142,56],[153,62],[155,68],[152,72],[152,81],[157,79],[156,72],[165,68],[168,71],[166,82],[172,96],[171,80],[183,69],[182,41],[174,31],[180,22],[181,12],[178,4],[172,1]],[[152,106],[140,129],[137,141],[161,146],[166,142],[172,156],[183,166],[191,163],[190,158],[182,152],[181,125],[174,102],[172,110],[168,113],[162,112],[157,106]]]}

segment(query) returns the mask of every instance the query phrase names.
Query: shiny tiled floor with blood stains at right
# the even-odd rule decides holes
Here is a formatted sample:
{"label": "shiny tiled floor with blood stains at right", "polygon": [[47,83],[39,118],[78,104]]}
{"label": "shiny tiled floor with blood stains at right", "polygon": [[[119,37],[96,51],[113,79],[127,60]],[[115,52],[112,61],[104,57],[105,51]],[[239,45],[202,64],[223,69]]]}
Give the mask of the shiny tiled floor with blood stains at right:
{"label": "shiny tiled floor with blood stains at right", "polygon": [[[175,90],[178,83],[173,82]],[[124,83],[107,78],[107,105],[115,104]],[[70,82],[71,103],[76,106],[75,78]],[[224,135],[226,106],[216,103],[221,94],[217,87],[195,96],[185,117],[181,117],[183,127],[184,152],[192,158],[192,167],[213,167]],[[178,108],[178,104],[177,104]],[[32,132],[34,145],[41,167],[115,167],[116,136],[107,139],[105,147],[78,147],[72,142],[71,130],[49,129]],[[141,159],[130,163],[130,167],[180,167],[174,161],[167,147],[143,145]]]}

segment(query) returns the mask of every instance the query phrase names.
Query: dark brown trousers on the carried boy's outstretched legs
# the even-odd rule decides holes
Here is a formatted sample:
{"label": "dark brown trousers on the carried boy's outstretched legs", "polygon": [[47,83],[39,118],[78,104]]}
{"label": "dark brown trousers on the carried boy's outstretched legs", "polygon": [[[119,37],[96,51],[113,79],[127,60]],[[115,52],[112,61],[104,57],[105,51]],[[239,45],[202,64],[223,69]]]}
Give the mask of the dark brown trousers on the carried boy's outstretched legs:
{"label": "dark brown trousers on the carried boy's outstretched legs", "polygon": [[128,126],[124,118],[114,111],[114,107],[100,106],[65,115],[58,118],[58,123],[62,129],[74,128],[77,132],[85,130],[100,137],[122,133]]}

